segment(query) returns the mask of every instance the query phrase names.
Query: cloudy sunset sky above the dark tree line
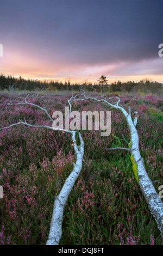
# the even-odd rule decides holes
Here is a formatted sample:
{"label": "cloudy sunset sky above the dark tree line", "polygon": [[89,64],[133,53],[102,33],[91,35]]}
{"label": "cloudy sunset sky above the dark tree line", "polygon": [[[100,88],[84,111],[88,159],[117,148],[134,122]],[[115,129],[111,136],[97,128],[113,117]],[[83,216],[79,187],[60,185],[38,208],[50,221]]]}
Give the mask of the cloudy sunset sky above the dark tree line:
{"label": "cloudy sunset sky above the dark tree line", "polygon": [[162,0],[0,0],[0,72],[163,82]]}

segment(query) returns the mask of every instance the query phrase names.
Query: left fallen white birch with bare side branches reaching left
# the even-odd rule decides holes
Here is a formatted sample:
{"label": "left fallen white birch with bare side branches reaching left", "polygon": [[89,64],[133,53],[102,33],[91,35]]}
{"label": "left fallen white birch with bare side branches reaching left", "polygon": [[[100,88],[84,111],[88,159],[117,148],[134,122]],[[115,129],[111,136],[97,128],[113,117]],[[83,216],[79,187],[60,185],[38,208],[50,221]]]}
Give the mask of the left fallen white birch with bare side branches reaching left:
{"label": "left fallen white birch with bare side branches reaching left", "polygon": [[[35,128],[45,128],[45,129],[50,129],[50,130],[54,130],[54,131],[62,131],[64,133],[65,132],[71,133],[71,135],[72,135],[72,146],[73,146],[74,152],[76,154],[76,163],[73,163],[74,167],[73,167],[71,174],[66,179],[65,184],[62,187],[62,190],[60,191],[59,195],[55,197],[54,207],[53,207],[53,215],[52,215],[52,220],[51,220],[51,227],[49,230],[49,236],[48,236],[48,240],[46,243],[47,245],[59,245],[59,241],[60,241],[61,235],[62,235],[62,217],[63,217],[63,213],[64,213],[64,208],[65,208],[68,196],[73,188],[73,185],[76,182],[76,180],[80,174],[80,171],[82,170],[83,154],[84,154],[84,141],[79,132],[78,136],[79,136],[80,144],[77,145],[77,140],[76,140],[77,132],[76,131],[65,130],[65,129],[60,129],[60,128],[54,127],[53,126],[54,120],[51,117],[51,115],[48,114],[47,110],[45,108],[40,107],[39,105],[35,105],[34,103],[28,102],[27,98],[28,98],[28,96],[23,98],[24,102],[19,102],[19,103],[13,103],[14,101],[11,101],[8,104],[8,106],[31,105],[31,106],[35,106],[36,108],[40,108],[42,111],[44,111],[46,113],[47,117],[52,121],[52,126],[32,125],[32,124],[27,123],[26,119],[24,118],[24,121],[19,120],[18,123],[14,123],[7,127],[3,127],[0,130],[9,129],[10,127],[13,127],[15,125],[27,125],[27,126],[31,126],[31,127],[35,127]],[[71,104],[70,101],[68,103]]]}

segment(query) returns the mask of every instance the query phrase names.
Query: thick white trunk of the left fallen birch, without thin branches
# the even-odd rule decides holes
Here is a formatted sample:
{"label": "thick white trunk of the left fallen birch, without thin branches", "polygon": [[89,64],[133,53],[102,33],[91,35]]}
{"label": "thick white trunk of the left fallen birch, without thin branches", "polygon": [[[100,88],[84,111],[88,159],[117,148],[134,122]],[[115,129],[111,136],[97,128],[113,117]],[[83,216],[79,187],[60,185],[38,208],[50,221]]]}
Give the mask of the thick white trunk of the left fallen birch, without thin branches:
{"label": "thick white trunk of the left fallen birch, without thin branches", "polygon": [[[75,133],[73,133],[73,141],[75,141]],[[51,228],[49,231],[49,236],[46,245],[59,245],[59,241],[62,235],[62,217],[66,201],[68,196],[76,182],[80,171],[82,170],[83,154],[84,154],[84,142],[82,136],[79,133],[80,146],[78,147],[74,144],[74,149],[77,154],[77,161],[74,163],[74,168],[71,174],[65,181],[60,194],[55,198],[53,215],[51,221]]]}

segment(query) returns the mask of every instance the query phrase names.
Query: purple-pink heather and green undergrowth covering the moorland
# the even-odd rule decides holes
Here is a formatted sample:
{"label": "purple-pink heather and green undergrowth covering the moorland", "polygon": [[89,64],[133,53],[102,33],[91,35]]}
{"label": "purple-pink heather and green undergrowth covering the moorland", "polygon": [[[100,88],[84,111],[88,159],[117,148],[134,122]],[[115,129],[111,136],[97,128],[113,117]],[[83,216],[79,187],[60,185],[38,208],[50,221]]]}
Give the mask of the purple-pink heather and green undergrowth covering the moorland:
{"label": "purple-pink heather and green undergrowth covering the moorland", "polygon": [[[34,106],[6,108],[17,96],[17,92],[1,92],[1,127],[24,117],[32,124],[51,125],[45,113]],[[70,96],[71,93],[65,96],[43,92],[38,99],[31,97],[30,102],[45,106],[52,116],[54,110],[64,112]],[[159,193],[163,134],[162,122],[152,109],[162,114],[162,99],[151,94],[124,94],[120,98],[122,106],[130,106],[131,113],[140,114],[136,126],[140,153]],[[105,106],[85,100],[82,104],[73,102],[74,109],[105,111]],[[130,153],[104,150],[128,147],[121,133],[129,142],[126,121],[116,109],[111,109],[110,136],[101,137],[94,130],[82,131],[83,168],[67,200],[60,245],[161,245],[160,231],[135,179]],[[73,169],[75,156],[71,144],[71,136],[58,131],[23,125],[0,131],[2,245],[45,245],[54,197]]]}

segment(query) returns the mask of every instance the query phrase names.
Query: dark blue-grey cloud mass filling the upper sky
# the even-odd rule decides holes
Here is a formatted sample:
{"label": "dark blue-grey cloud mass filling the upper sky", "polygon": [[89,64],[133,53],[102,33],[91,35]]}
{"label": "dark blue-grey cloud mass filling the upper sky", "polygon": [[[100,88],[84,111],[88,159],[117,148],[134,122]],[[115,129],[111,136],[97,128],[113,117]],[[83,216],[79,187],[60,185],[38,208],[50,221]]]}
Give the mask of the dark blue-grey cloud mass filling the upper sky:
{"label": "dark blue-grey cloud mass filling the upper sky", "polygon": [[0,5],[1,43],[22,56],[59,67],[158,58],[162,0],[1,0]]}

